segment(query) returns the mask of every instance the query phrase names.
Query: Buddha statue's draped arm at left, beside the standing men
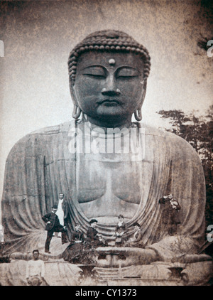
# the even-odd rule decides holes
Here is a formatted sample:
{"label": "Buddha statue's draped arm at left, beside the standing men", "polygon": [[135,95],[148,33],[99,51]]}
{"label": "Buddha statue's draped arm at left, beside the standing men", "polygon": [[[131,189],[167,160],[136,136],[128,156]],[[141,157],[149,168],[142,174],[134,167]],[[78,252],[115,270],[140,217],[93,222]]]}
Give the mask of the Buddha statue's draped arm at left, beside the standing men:
{"label": "Buddha statue's draped arm at left, beside the standing men", "polygon": [[39,239],[45,232],[44,156],[41,146],[35,147],[36,138],[28,135],[18,141],[6,160],[1,205],[5,249],[11,252],[28,250],[31,236]]}

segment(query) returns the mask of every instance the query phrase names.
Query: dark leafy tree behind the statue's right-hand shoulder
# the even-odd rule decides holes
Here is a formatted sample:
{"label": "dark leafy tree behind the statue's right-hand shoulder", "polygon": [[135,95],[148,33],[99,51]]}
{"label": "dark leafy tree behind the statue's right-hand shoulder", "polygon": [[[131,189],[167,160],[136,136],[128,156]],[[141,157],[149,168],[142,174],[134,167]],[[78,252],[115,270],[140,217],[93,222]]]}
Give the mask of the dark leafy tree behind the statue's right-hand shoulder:
{"label": "dark leafy tree behind the statue's right-hand shoulder", "polygon": [[178,134],[188,141],[197,151],[204,168],[206,180],[206,225],[213,224],[213,105],[209,107],[206,114],[196,117],[195,112],[185,114],[182,110],[160,110],[158,114],[163,119],[170,119],[170,129],[168,132]]}

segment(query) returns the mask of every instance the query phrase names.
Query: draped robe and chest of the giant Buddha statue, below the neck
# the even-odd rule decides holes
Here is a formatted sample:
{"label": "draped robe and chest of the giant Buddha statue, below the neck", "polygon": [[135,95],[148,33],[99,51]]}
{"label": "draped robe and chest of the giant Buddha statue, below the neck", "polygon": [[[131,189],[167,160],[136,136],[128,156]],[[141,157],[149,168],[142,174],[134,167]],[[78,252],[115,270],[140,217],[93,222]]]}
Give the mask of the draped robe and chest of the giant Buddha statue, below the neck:
{"label": "draped robe and chest of the giant Buddha statue, below the neck", "polygon": [[[129,228],[135,222],[141,225],[141,245],[155,250],[158,259],[195,253],[204,239],[205,188],[200,158],[192,146],[175,134],[143,125],[143,145],[138,154],[141,159],[133,159],[131,154],[110,154],[106,162],[105,154],[70,150],[75,145],[73,132],[83,125],[67,122],[46,127],[24,136],[13,146],[6,160],[2,198],[5,253],[42,247],[39,243],[45,234],[42,216],[50,212],[61,191],[67,198],[71,228],[80,223],[85,234],[89,218],[96,217],[84,213],[90,205],[97,203],[93,210],[96,213],[98,205],[105,201],[108,213],[114,209],[110,200],[114,203],[117,200],[118,207],[127,215],[129,205],[132,207],[126,223]],[[106,171],[109,165],[110,172]],[[108,179],[107,174],[111,176]],[[181,207],[175,236],[168,235],[163,208],[158,203],[167,193],[173,193]],[[120,213],[116,211],[117,215]],[[106,220],[97,224],[97,230],[110,238],[115,225]]]}

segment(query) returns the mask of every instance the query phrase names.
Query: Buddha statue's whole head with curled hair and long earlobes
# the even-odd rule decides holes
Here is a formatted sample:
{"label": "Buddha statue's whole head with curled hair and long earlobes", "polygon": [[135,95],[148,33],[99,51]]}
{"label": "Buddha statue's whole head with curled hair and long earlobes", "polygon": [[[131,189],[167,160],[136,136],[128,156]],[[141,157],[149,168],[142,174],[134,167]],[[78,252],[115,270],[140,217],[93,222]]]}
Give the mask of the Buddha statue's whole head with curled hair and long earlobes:
{"label": "Buddha statue's whole head with curled hair and long earlobes", "polygon": [[119,127],[142,119],[150,56],[121,31],[97,31],[76,45],[68,60],[72,117],[87,115],[93,124]]}

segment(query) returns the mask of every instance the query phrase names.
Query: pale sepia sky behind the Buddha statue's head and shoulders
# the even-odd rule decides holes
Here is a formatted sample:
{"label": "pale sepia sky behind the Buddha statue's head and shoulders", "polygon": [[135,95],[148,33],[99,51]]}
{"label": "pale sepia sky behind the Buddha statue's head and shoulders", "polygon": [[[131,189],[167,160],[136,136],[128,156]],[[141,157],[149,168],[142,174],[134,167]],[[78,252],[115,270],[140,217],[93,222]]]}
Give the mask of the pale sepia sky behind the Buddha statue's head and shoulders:
{"label": "pale sepia sky behind the Buddha statue's head and shoulders", "polygon": [[212,59],[197,46],[211,39],[211,16],[199,0],[23,1],[2,3],[0,194],[13,144],[35,129],[72,118],[67,58],[87,34],[129,33],[148,48],[143,122],[164,127],[161,109],[198,110],[212,105]]}

